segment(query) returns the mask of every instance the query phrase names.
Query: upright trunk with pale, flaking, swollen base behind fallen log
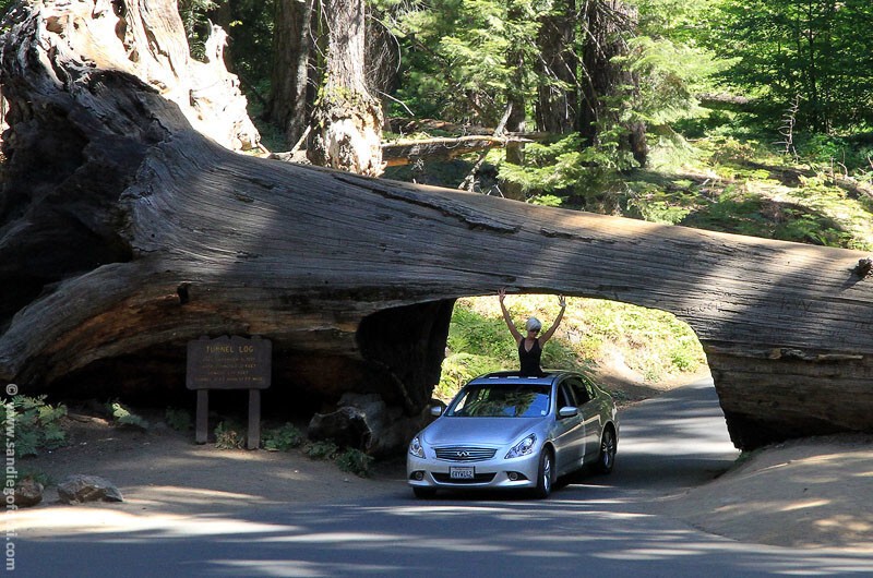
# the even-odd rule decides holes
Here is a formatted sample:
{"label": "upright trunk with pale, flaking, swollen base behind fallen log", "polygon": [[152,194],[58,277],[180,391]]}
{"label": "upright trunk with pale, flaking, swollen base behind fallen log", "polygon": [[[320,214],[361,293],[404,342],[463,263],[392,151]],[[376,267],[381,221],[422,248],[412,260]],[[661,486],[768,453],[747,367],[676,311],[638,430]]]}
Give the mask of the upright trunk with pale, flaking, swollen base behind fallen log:
{"label": "upright trunk with pale, flaking, swollen base behind fallen log", "polygon": [[326,0],[323,5],[327,73],[307,156],[313,165],[376,177],[383,170],[382,107],[364,77],[363,0]]}

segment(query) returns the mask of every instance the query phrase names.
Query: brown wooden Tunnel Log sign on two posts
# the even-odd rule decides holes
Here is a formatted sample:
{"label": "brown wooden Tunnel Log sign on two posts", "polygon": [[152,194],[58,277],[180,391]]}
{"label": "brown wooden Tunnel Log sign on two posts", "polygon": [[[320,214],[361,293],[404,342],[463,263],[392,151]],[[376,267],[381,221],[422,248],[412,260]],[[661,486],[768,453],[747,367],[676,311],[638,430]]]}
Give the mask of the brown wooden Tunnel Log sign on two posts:
{"label": "brown wooden Tunnel Log sign on two posts", "polygon": [[249,390],[247,447],[261,445],[261,389],[271,384],[273,344],[253,337],[201,337],[188,342],[186,383],[198,392],[195,442],[208,438],[210,389]]}

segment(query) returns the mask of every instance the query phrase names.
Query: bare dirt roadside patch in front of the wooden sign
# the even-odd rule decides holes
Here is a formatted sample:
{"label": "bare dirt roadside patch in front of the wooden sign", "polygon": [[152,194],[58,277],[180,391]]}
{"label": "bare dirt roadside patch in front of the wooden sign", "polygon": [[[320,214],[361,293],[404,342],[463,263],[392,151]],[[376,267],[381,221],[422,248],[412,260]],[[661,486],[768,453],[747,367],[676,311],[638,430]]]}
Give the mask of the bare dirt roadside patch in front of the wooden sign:
{"label": "bare dirt roadside patch in front of the wooden sign", "polygon": [[193,430],[174,431],[145,413],[153,424],[147,431],[74,417],[67,420],[68,446],[22,459],[19,470],[39,472],[50,484],[73,473],[99,475],[121,491],[124,502],[64,505],[57,487],[48,485],[38,506],[4,514],[19,534],[166,527],[195,515],[218,519],[289,502],[342,503],[405,490],[399,460],[379,463],[370,478],[359,478],[298,449],[219,449],[212,441],[198,445]]}

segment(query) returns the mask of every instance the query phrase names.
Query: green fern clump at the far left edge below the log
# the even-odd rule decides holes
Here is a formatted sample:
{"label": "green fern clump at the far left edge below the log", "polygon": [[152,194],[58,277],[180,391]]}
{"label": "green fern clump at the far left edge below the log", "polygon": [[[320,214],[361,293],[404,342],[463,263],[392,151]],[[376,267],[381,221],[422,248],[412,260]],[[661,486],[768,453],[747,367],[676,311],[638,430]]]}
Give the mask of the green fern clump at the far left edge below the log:
{"label": "green fern clump at the far left edge below the log", "polygon": [[61,418],[67,407],[46,404],[46,396],[23,395],[3,399],[0,419],[3,446],[9,450],[14,444],[15,457],[35,456],[43,449],[55,449],[67,444],[67,431]]}

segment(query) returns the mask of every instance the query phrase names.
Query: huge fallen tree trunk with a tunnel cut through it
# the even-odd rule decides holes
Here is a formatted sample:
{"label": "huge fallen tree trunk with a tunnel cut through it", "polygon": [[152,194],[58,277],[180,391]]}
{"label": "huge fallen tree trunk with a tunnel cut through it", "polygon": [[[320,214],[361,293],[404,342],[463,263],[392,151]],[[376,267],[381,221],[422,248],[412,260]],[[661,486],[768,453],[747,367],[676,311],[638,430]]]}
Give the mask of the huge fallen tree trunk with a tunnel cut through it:
{"label": "huge fallen tree trunk with a tunnel cut through it", "polygon": [[505,287],[677,314],[739,447],[873,431],[866,255],[239,155],[128,59],[183,70],[148,60],[170,28],[116,35],[171,0],[123,23],[83,4],[28,4],[2,39],[0,381],[165,399],[188,340],[260,335],[267,392],[379,394],[414,417],[454,300]]}

